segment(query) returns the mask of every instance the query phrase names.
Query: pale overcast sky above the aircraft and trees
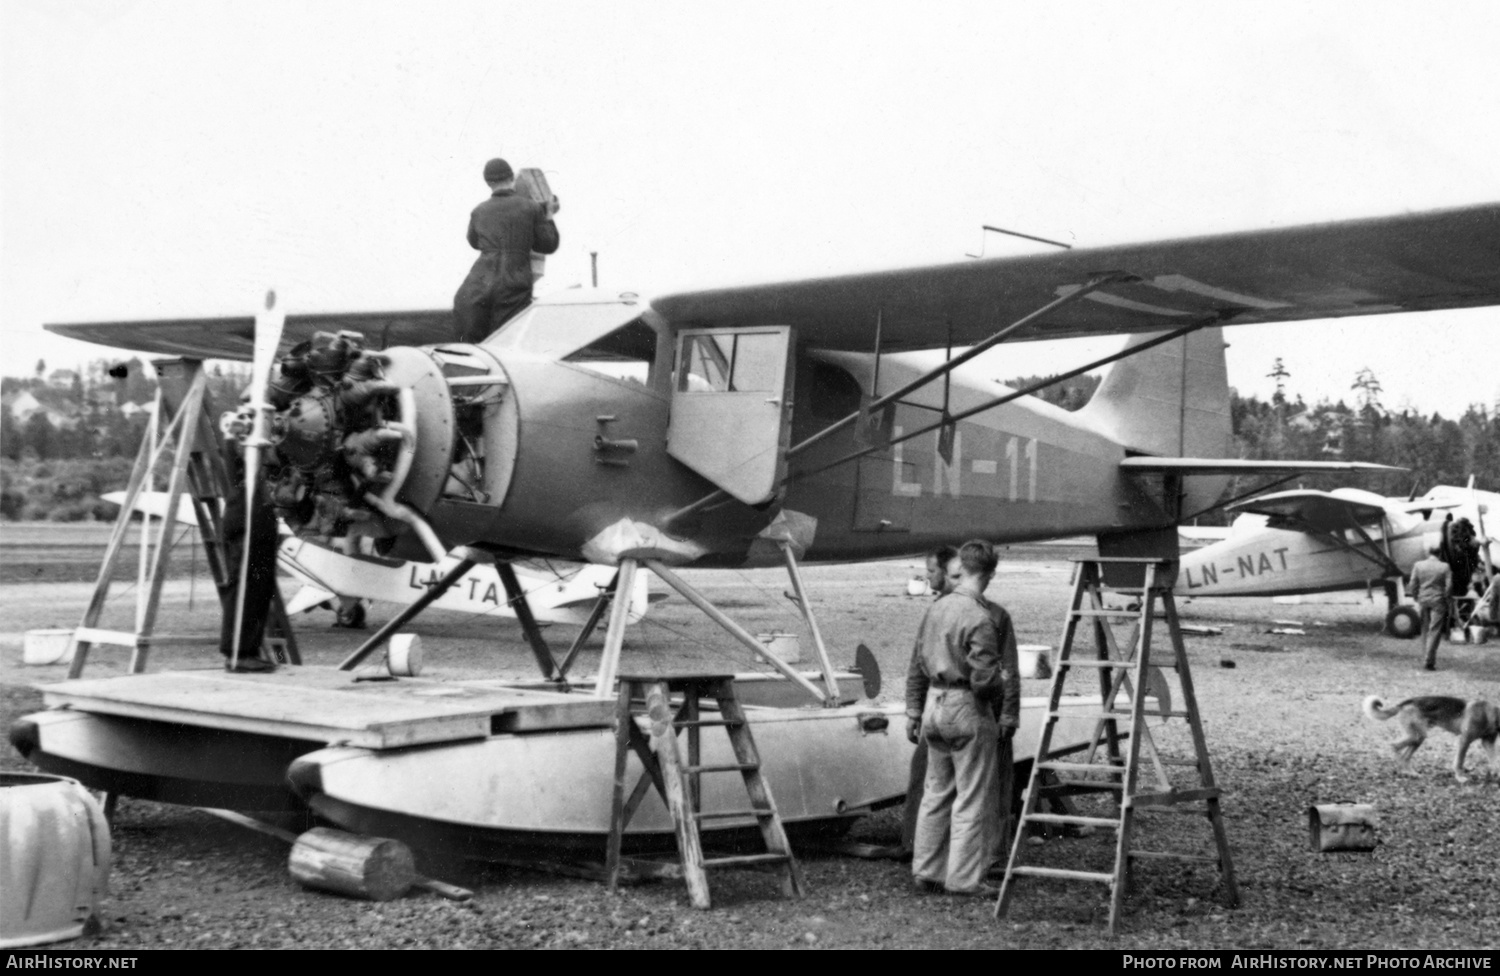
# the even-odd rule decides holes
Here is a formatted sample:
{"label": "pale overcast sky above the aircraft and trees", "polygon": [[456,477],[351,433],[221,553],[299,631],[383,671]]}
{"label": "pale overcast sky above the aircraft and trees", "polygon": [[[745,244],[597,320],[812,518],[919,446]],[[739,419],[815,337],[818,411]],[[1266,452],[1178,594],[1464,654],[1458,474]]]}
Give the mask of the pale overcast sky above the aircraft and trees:
{"label": "pale overcast sky above the aircraft and trees", "polygon": [[[538,291],[663,292],[1500,199],[1500,4],[0,1],[0,372],[42,322],[447,307],[504,154]],[[1308,400],[1500,400],[1500,309],[1230,330]],[[1011,351],[1010,376],[1077,343]],[[1056,346],[1062,345],[1062,349]]]}

